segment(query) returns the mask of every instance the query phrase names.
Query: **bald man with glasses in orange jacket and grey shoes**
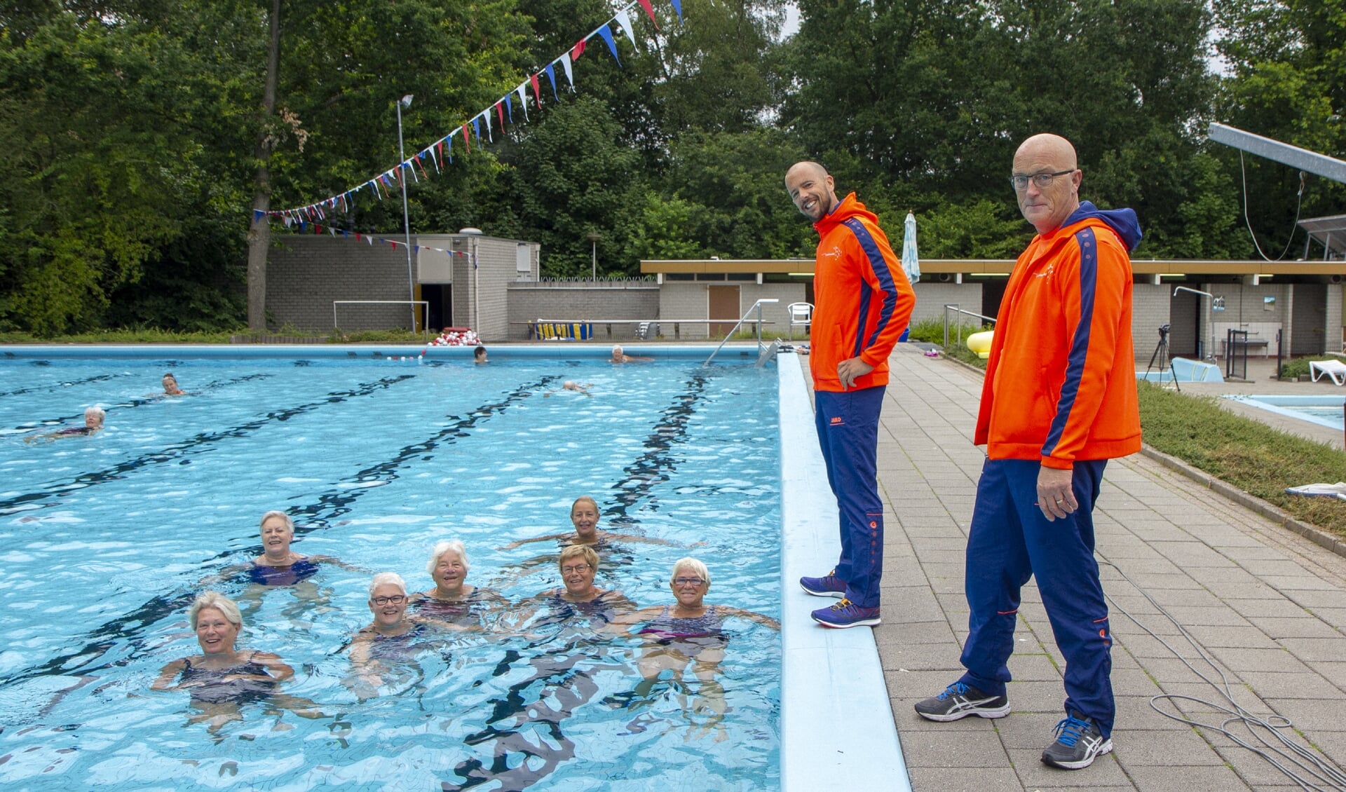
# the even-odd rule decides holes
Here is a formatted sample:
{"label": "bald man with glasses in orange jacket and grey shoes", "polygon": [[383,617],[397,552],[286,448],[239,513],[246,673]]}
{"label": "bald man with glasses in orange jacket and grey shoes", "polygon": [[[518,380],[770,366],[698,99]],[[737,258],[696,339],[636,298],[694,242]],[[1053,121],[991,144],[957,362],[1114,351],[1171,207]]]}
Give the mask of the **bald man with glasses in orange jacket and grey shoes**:
{"label": "bald man with glasses in orange jacket and grey shoes", "polygon": [[1131,344],[1136,212],[1079,200],[1063,137],[1014,157],[1019,210],[1038,230],[996,319],[975,442],[987,463],[968,530],[968,641],[961,679],[917,713],[931,721],[1010,714],[1005,683],[1019,589],[1036,577],[1066,659],[1066,717],[1042,761],[1089,766],[1112,750],[1112,637],[1094,559],[1093,507],[1109,459],[1140,450]]}

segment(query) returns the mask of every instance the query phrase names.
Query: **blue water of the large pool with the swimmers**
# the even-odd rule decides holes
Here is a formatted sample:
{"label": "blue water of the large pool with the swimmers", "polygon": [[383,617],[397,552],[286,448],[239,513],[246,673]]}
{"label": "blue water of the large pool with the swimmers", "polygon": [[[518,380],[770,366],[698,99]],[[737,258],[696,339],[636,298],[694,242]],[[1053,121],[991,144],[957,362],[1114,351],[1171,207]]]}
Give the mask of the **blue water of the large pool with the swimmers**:
{"label": "blue water of the large pool with the swimmers", "polygon": [[[168,370],[194,395],[153,395]],[[565,379],[592,398],[545,395]],[[715,683],[638,690],[639,641],[553,625],[444,639],[361,702],[339,649],[369,623],[369,576],[323,566],[291,589],[215,588],[245,609],[240,645],[281,655],[285,692],[326,717],[256,703],[210,734],[148,686],[199,651],[186,606],[260,553],[271,508],[300,526],[295,550],[416,590],[429,547],[462,538],[468,581],[517,602],[559,585],[555,546],[497,547],[567,530],[590,493],[603,528],[707,543],[623,545],[600,586],[668,602],[692,554],[708,601],[778,616],[775,399],[774,368],[697,360],[0,360],[0,784],[774,789],[779,643],[750,623],[730,623]],[[23,442],[90,405],[101,434]]]}

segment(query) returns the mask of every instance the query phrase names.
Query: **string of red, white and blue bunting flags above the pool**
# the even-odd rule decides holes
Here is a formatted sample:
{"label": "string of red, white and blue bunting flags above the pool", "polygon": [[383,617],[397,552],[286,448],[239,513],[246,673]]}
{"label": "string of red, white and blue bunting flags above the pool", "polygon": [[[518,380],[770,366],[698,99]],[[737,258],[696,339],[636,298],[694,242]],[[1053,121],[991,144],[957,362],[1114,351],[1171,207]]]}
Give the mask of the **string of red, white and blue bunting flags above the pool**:
{"label": "string of red, white and blue bunting flags above the pool", "polygon": [[[681,3],[681,0],[668,0],[668,3],[669,3],[669,5],[672,5],[674,13],[677,13],[678,24],[681,24],[682,23],[682,3]],[[561,95],[560,95],[560,91],[559,91],[557,85],[556,85],[556,65],[557,63],[560,63],[561,71],[565,74],[565,81],[569,85],[571,91],[573,93],[576,90],[575,89],[575,71],[573,71],[575,61],[579,61],[579,58],[584,54],[584,50],[586,50],[586,46],[587,46],[588,40],[592,39],[594,36],[598,36],[598,38],[603,39],[603,43],[607,44],[608,51],[612,54],[612,61],[615,61],[619,67],[622,66],[622,61],[621,61],[621,58],[618,58],[618,54],[616,54],[616,39],[612,35],[612,27],[611,26],[615,24],[618,27],[618,30],[627,39],[630,39],[631,46],[638,52],[639,47],[637,44],[637,40],[635,40],[635,28],[631,24],[631,9],[635,8],[637,4],[639,4],[639,7],[649,16],[650,22],[654,24],[654,30],[660,30],[658,28],[658,20],[656,19],[656,15],[654,15],[654,7],[651,4],[651,0],[630,0],[630,3],[627,3],[622,9],[619,9],[616,13],[614,13],[607,22],[604,22],[603,24],[600,24],[596,28],[594,28],[592,31],[590,31],[590,34],[586,35],[584,38],[581,38],[580,40],[575,42],[575,44],[572,47],[569,47],[568,50],[565,50],[564,52],[561,52],[560,55],[557,55],[556,58],[553,58],[542,69],[538,69],[538,70],[533,71],[532,74],[529,74],[528,78],[524,79],[521,83],[518,83],[517,87],[514,87],[510,91],[506,91],[503,97],[495,100],[491,105],[487,105],[483,110],[481,110],[479,113],[476,113],[476,116],[472,116],[472,118],[470,121],[464,121],[463,124],[458,125],[451,132],[448,132],[447,134],[440,136],[439,138],[435,140],[435,143],[432,143],[428,147],[420,149],[419,152],[416,152],[415,155],[412,155],[411,157],[408,157],[405,161],[398,163],[397,165],[394,165],[394,167],[384,171],[382,173],[378,173],[377,176],[374,176],[374,177],[371,177],[371,179],[369,179],[369,180],[366,180],[366,182],[363,182],[361,184],[357,184],[355,187],[351,187],[350,190],[346,190],[345,192],[339,192],[336,195],[332,195],[332,196],[326,198],[323,200],[319,200],[316,203],[310,203],[308,206],[296,206],[296,207],[280,208],[280,210],[254,210],[253,211],[253,222],[261,222],[264,218],[272,216],[272,218],[280,218],[285,223],[285,227],[289,227],[289,226],[297,223],[299,227],[300,227],[300,230],[303,230],[303,227],[307,223],[310,223],[310,222],[315,223],[315,227],[316,227],[316,221],[319,221],[319,219],[326,221],[327,219],[327,214],[326,214],[327,210],[341,211],[341,212],[350,212],[351,207],[354,207],[354,204],[355,204],[357,194],[361,192],[362,190],[367,190],[369,192],[373,192],[374,196],[378,198],[378,200],[382,200],[384,198],[386,198],[384,195],[385,191],[388,192],[388,195],[392,195],[400,186],[404,184],[404,180],[405,180],[405,176],[402,175],[402,169],[404,168],[405,169],[411,169],[413,182],[419,184],[420,183],[420,176],[424,175],[427,179],[429,177],[429,172],[425,169],[424,163],[421,163],[420,160],[424,160],[427,156],[429,156],[431,161],[435,164],[435,172],[436,173],[440,173],[441,168],[447,167],[448,163],[454,161],[452,147],[454,147],[454,134],[455,133],[459,133],[459,132],[462,133],[462,136],[463,136],[463,145],[467,148],[467,153],[472,152],[472,141],[471,141],[471,137],[470,137],[468,130],[467,130],[468,125],[472,126],[472,132],[475,132],[475,134],[476,134],[476,147],[478,148],[482,147],[482,126],[481,126],[481,122],[482,122],[483,118],[486,120],[486,138],[487,138],[487,143],[495,143],[495,137],[494,137],[494,132],[495,130],[491,129],[491,109],[495,110],[495,118],[497,118],[498,125],[499,125],[499,132],[503,134],[505,133],[506,116],[509,118],[509,122],[514,124],[514,101],[513,100],[517,95],[518,97],[518,104],[521,105],[521,109],[524,110],[524,121],[526,122],[529,120],[528,118],[528,93],[529,93],[529,89],[532,89],[532,91],[533,91],[533,101],[536,102],[536,106],[537,108],[542,106],[542,87],[541,87],[541,82],[538,79],[541,75],[546,75],[546,81],[548,81],[548,83],[552,87],[552,98],[555,101],[560,102],[561,101]],[[503,104],[505,106],[501,108],[501,104]],[[417,167],[420,168],[420,173],[416,172]],[[396,182],[396,184],[394,184],[394,182]],[[334,234],[336,233],[335,229],[332,229],[332,231],[334,231]],[[347,231],[341,231],[341,233],[342,234],[349,234]],[[361,238],[361,235],[357,234],[357,239],[359,239],[359,238]],[[363,237],[363,238],[367,239],[370,245],[373,245],[374,239],[376,239],[374,237],[367,237],[367,235]],[[384,239],[381,239],[381,241],[384,241]],[[394,242],[392,239],[386,239],[386,242],[389,242],[393,246],[397,245],[397,242]],[[431,247],[431,250],[437,250],[437,249]]]}

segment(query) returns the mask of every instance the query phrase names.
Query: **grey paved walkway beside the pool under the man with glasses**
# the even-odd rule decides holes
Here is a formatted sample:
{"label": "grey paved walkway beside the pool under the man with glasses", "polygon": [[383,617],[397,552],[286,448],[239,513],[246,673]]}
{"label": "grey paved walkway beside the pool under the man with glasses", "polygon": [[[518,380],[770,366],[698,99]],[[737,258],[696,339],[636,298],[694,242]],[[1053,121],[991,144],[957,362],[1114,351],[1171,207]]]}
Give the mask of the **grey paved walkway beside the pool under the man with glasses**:
{"label": "grey paved walkway beside the pool under the man with glasses", "polygon": [[[1228,737],[1151,707],[1149,698],[1163,692],[1221,697],[1139,627],[1163,635],[1214,678],[1136,586],[1215,658],[1240,705],[1292,719],[1346,766],[1346,558],[1139,454],[1108,465],[1096,510],[1116,639],[1113,754],[1075,772],[1038,760],[1062,717],[1065,663],[1032,584],[1010,660],[1012,714],[953,723],[919,718],[911,705],[962,671],[962,550],[983,461],[972,445],[981,379],[906,344],[890,363],[879,437],[879,485],[890,504],[884,621],[875,639],[917,791],[1296,788]],[[1180,706],[1198,719],[1224,719],[1202,705]]]}

